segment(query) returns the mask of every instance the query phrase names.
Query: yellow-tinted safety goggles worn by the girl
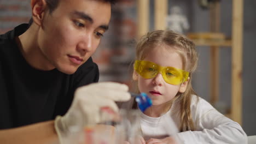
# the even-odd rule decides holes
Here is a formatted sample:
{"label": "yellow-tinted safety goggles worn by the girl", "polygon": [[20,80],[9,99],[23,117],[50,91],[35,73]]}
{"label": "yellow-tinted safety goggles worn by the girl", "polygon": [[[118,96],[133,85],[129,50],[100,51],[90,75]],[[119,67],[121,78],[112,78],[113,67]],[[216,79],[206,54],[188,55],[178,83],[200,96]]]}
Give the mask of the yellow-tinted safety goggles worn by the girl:
{"label": "yellow-tinted safety goggles worn by the girl", "polygon": [[162,75],[166,83],[171,85],[179,85],[188,80],[189,72],[173,67],[162,67],[149,61],[136,60],[134,69],[144,79],[152,79],[158,73]]}

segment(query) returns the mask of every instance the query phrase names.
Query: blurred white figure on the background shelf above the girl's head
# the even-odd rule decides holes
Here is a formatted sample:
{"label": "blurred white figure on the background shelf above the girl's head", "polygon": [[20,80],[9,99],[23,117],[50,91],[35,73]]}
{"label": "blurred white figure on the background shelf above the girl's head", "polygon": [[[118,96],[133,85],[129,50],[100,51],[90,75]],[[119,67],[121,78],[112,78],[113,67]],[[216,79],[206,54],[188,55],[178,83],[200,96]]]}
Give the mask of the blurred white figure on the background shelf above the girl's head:
{"label": "blurred white figure on the background shelf above the girl's head", "polygon": [[188,19],[183,15],[181,8],[178,6],[173,6],[170,9],[170,15],[166,17],[166,25],[167,29],[181,34],[189,29]]}

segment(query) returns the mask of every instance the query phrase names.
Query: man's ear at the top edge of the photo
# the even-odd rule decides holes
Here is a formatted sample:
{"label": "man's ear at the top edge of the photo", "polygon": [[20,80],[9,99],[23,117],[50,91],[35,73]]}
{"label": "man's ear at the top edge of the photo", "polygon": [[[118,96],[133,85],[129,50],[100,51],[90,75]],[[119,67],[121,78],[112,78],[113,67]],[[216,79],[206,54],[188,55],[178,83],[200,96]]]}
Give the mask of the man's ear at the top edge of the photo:
{"label": "man's ear at the top edge of the photo", "polygon": [[39,26],[42,25],[46,5],[45,0],[31,0],[32,19]]}

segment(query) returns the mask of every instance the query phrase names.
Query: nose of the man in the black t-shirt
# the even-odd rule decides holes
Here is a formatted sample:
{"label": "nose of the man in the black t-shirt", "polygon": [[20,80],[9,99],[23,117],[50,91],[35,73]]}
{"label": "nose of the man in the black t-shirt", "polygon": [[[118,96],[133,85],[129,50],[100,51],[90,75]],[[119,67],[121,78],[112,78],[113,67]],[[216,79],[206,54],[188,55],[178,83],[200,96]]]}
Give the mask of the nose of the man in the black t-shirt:
{"label": "nose of the man in the black t-shirt", "polygon": [[77,50],[83,54],[92,51],[92,34],[86,34],[82,37],[79,41]]}

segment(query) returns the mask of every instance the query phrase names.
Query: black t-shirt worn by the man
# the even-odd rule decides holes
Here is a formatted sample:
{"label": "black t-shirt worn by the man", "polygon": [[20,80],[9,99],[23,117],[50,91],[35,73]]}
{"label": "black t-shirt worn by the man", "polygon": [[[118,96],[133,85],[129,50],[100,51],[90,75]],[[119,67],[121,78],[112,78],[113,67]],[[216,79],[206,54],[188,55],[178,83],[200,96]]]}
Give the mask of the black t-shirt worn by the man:
{"label": "black t-shirt worn by the man", "polygon": [[24,33],[27,27],[22,24],[0,35],[0,129],[64,115],[72,103],[75,89],[98,81],[98,67],[92,58],[71,75],[57,69],[42,71],[31,67],[15,42],[15,37]]}

